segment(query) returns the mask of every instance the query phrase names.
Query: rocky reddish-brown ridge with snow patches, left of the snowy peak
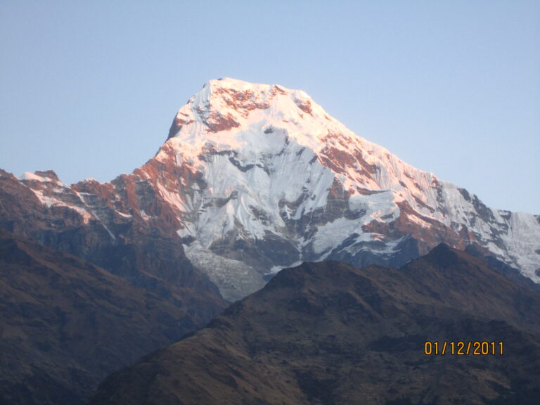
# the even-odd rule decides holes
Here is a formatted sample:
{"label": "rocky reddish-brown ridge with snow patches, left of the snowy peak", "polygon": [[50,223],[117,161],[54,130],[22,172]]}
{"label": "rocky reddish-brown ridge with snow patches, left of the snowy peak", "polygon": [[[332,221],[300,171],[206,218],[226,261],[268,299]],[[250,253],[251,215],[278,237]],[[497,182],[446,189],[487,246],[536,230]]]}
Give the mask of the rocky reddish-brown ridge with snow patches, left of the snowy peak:
{"label": "rocky reddish-brown ridge with snow patches, left of the snowy peak", "polygon": [[[88,193],[77,191],[82,186]],[[159,200],[135,197],[129,186],[124,190],[126,205],[135,201],[139,207],[161,210]],[[186,258],[177,236],[166,226],[124,214],[111,195],[112,184],[67,186],[51,170],[25,174],[20,181],[0,169],[0,228],[81,257],[178,307],[188,307],[193,329],[219,314],[226,303],[216,285]]]}

